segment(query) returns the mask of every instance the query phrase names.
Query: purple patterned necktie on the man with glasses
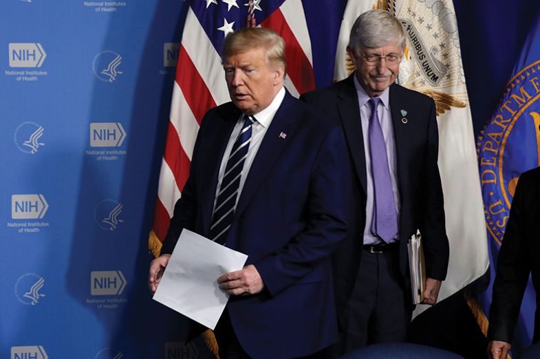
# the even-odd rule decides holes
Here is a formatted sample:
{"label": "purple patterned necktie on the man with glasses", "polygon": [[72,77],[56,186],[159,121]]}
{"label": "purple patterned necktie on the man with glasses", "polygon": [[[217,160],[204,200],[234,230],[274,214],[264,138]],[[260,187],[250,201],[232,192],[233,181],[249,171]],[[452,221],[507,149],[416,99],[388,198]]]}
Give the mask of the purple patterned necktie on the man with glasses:
{"label": "purple patterned necktie on the man with glasses", "polygon": [[371,174],[374,185],[371,232],[389,243],[398,234],[398,213],[396,200],[393,198],[385,137],[382,136],[377,114],[379,102],[379,97],[369,100],[369,106],[372,110],[368,126],[369,154],[371,155]]}

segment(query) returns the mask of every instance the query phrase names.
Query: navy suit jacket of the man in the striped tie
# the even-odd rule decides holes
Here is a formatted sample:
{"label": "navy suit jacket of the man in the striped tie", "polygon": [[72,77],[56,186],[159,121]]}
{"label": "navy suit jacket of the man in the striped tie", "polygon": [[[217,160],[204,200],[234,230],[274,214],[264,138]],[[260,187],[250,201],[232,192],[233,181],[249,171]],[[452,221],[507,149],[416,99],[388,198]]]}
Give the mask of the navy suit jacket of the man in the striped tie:
{"label": "navy suit jacket of the man in the striped tie", "polygon": [[[162,253],[173,251],[183,228],[208,235],[219,165],[240,115],[229,102],[204,116]],[[305,356],[337,339],[330,255],[352,222],[347,158],[338,122],[287,93],[225,244],[246,253],[264,281],[259,294],[231,297],[227,305],[239,342],[254,358]]]}

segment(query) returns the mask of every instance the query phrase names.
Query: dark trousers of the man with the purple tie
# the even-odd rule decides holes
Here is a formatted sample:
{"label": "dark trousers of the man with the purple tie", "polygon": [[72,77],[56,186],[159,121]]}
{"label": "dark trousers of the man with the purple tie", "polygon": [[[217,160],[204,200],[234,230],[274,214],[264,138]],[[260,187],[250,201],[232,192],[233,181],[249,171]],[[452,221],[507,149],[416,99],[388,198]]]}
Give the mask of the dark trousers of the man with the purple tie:
{"label": "dark trousers of the man with the purple tie", "polygon": [[345,351],[376,343],[407,339],[412,309],[408,308],[399,273],[399,248],[382,253],[364,250],[348,303]]}

